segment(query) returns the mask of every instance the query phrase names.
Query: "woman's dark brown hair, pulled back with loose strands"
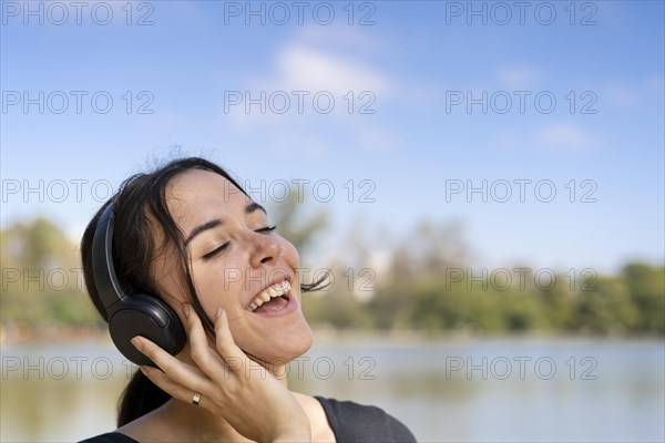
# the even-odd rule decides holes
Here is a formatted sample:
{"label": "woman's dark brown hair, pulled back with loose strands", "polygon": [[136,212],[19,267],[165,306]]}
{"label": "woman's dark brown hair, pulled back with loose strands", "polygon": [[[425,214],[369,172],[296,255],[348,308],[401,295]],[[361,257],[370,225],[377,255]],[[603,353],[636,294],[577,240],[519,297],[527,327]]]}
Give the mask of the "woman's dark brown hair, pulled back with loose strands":
{"label": "woman's dark brown hair, pulled back with loose strands", "polygon": [[[151,172],[133,175],[122,183],[119,192],[92,218],[81,240],[81,260],[85,288],[94,307],[105,321],[106,309],[96,290],[92,274],[92,238],[98,220],[110,202],[115,205],[113,233],[113,265],[125,293],[151,293],[160,297],[151,274],[152,262],[164,248],[172,247],[177,257],[182,281],[206,332],[214,337],[214,324],[205,315],[196,296],[190,272],[190,256],[184,235],[173,220],[166,205],[166,185],[186,171],[200,169],[219,174],[245,195],[247,193],[231,175],[216,164],[200,157],[180,158]],[[163,243],[157,245],[155,223],[162,229]],[[325,279],[300,286],[303,291],[320,289]],[[170,395],[136,371],[119,402],[117,425],[122,426],[160,408]]]}

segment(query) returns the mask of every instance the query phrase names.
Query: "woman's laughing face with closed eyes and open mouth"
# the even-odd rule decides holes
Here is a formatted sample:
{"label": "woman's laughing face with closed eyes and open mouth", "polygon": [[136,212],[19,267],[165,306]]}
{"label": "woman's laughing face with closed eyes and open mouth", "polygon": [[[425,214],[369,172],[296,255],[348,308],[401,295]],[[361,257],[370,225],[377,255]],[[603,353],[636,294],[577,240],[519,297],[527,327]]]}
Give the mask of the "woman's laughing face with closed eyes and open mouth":
{"label": "woman's laughing face with closed eyes and open mouth", "polygon": [[[306,352],[311,331],[300,308],[298,253],[269,230],[264,209],[206,171],[174,177],[166,203],[184,233],[196,293],[208,318],[224,309],[237,346],[263,361],[285,362]],[[184,318],[180,303],[188,297],[178,281],[182,274],[173,271],[176,262],[173,254],[161,255],[153,271],[161,293]]]}

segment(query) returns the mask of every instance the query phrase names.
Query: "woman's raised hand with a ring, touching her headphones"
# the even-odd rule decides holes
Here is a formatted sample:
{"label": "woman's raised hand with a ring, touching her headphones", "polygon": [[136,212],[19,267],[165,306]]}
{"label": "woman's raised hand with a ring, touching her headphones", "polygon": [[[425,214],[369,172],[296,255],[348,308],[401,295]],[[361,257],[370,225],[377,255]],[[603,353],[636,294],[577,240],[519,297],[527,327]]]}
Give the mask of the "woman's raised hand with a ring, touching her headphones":
{"label": "woman's raised hand with a ring, touching her headphones", "polygon": [[216,351],[208,346],[201,320],[185,306],[192,360],[184,363],[152,341],[135,337],[132,343],[160,369],[142,367],[145,375],[172,398],[191,403],[202,394],[200,408],[226,420],[237,432],[257,442],[311,440],[309,420],[296,398],[265,368],[238,348],[226,312],[215,319]]}

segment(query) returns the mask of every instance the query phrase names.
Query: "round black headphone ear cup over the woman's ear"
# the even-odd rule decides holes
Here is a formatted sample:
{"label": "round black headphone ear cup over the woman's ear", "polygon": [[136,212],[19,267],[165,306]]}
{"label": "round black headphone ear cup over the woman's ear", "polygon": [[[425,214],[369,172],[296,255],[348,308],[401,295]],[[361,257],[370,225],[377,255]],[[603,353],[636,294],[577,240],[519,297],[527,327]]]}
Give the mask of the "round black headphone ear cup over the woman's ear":
{"label": "round black headphone ear cup over the woman's ear", "polygon": [[136,337],[145,337],[172,356],[185,346],[186,334],[180,318],[163,300],[147,293],[135,293],[121,299],[122,306],[109,318],[111,339],[120,352],[135,364],[156,364],[132,344]]}

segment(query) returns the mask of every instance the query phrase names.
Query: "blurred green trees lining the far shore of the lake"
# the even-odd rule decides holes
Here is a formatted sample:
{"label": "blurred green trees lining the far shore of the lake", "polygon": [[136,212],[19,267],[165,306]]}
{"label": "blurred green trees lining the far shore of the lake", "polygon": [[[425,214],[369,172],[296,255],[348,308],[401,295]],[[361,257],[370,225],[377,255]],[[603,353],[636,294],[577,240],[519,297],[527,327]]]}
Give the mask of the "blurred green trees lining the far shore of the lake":
{"label": "blurred green trees lining the far shore of the lake", "polygon": [[[307,250],[328,216],[304,216],[291,194],[270,212],[280,234]],[[0,241],[3,326],[103,324],[84,293],[76,248],[55,225],[43,218],[17,224],[0,231]],[[367,260],[362,246],[355,247],[349,255]],[[533,275],[521,280],[515,271],[528,267],[498,278],[469,267],[469,257],[458,225],[422,224],[364,281],[369,292],[357,281],[358,265],[369,269],[368,262],[339,264],[328,289],[304,295],[305,315],[315,327],[338,329],[665,336],[663,266],[631,262],[615,276],[576,279],[567,271],[538,285]]]}

